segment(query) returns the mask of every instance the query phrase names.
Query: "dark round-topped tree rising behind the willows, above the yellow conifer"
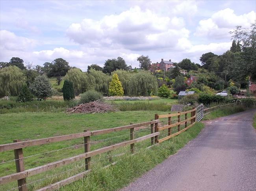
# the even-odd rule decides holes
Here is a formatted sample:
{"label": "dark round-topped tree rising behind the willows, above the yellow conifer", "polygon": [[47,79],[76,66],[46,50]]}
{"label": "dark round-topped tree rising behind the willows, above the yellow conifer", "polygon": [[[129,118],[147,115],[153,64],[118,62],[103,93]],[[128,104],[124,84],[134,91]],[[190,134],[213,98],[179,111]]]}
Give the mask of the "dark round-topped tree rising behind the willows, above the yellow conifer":
{"label": "dark round-topped tree rising behind the willows, above the yellow conifer", "polygon": [[111,72],[117,69],[128,70],[128,66],[125,63],[125,60],[121,57],[118,57],[117,59],[114,58],[106,60],[103,67],[103,72],[111,74]]}

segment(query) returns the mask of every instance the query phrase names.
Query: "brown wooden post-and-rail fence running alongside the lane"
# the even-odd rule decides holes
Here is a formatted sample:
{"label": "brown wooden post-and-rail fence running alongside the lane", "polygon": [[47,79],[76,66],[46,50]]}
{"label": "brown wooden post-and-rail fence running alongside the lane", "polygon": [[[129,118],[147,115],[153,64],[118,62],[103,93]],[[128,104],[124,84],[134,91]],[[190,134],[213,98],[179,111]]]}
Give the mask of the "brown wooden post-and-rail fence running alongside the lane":
{"label": "brown wooden post-and-rail fence running alongside the lane", "polygon": [[[174,113],[174,114],[167,114],[167,115],[157,115],[156,114],[155,120],[151,120],[149,122],[143,122],[143,123],[139,123],[139,124],[130,124],[128,126],[115,127],[115,128],[110,128],[110,129],[102,129],[102,130],[97,130],[97,131],[84,130],[83,133],[54,136],[54,137],[50,137],[50,138],[42,138],[42,139],[37,139],[37,140],[28,140],[28,141],[14,140],[13,143],[0,145],[0,152],[14,150],[15,164],[16,164],[16,170],[17,170],[17,173],[13,173],[11,175],[6,175],[6,176],[0,177],[0,185],[6,184],[8,182],[17,181],[18,182],[17,188],[19,189],[19,191],[27,191],[27,184],[26,184],[27,177],[37,175],[39,173],[43,173],[43,172],[49,171],[51,169],[65,166],[65,165],[68,165],[68,164],[71,164],[71,163],[74,163],[74,162],[77,162],[80,160],[85,160],[85,171],[84,172],[79,173],[74,176],[71,176],[69,178],[66,178],[65,180],[61,180],[59,182],[56,182],[54,184],[51,184],[50,186],[46,186],[39,190],[45,191],[45,190],[58,189],[60,186],[64,186],[66,184],[69,184],[70,182],[74,182],[76,180],[83,178],[90,171],[90,164],[91,164],[92,156],[96,156],[101,153],[106,153],[108,151],[112,151],[112,150],[118,149],[120,147],[128,146],[128,145],[130,145],[130,151],[133,154],[135,143],[138,143],[138,142],[141,142],[148,138],[151,138],[151,145],[153,145],[156,143],[161,143],[164,140],[168,140],[169,138],[179,135],[180,133],[186,131],[191,126],[193,126],[193,124],[195,123],[195,110],[196,109],[193,108],[190,111],[185,111],[185,112],[181,112],[181,113]],[[190,118],[187,118],[188,113],[191,114]],[[185,120],[180,121],[181,115],[185,115]],[[171,118],[173,116],[177,116],[178,120],[176,123],[171,124]],[[168,125],[159,127],[160,126],[159,125],[160,118],[168,118]],[[187,122],[190,122],[189,126],[187,126]],[[181,124],[185,124],[185,128],[182,130],[180,130]],[[150,125],[150,134],[141,136],[139,138],[135,138],[134,128],[147,126],[147,125]],[[178,126],[178,132],[171,134],[171,128],[175,127],[175,126]],[[91,151],[91,149],[90,149],[90,145],[91,145],[90,137],[91,136],[122,131],[125,129],[130,129],[130,140]],[[164,129],[168,129],[168,136],[158,140],[158,136],[160,135],[159,131],[162,131]],[[23,161],[23,159],[24,159],[23,150],[22,150],[23,148],[30,147],[30,146],[38,146],[38,145],[43,145],[43,144],[50,144],[50,143],[64,141],[64,140],[71,140],[74,138],[84,138],[84,153],[82,153],[80,155],[72,156],[69,158],[65,158],[62,160],[58,160],[56,162],[51,162],[51,163],[48,163],[48,164],[45,164],[42,166],[34,167],[31,169],[27,169],[27,170],[25,169],[24,161]]]}

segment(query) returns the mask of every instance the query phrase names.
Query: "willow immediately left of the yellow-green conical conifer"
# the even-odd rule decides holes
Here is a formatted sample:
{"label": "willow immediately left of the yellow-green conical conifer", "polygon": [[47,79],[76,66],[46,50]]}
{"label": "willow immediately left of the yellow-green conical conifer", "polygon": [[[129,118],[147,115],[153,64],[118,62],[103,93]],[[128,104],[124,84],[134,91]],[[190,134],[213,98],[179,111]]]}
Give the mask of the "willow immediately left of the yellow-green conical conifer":
{"label": "willow immediately left of the yellow-green conical conifer", "polygon": [[108,95],[108,84],[111,81],[111,76],[104,74],[102,71],[90,69],[87,73],[89,89],[94,89],[101,92],[103,95]]}

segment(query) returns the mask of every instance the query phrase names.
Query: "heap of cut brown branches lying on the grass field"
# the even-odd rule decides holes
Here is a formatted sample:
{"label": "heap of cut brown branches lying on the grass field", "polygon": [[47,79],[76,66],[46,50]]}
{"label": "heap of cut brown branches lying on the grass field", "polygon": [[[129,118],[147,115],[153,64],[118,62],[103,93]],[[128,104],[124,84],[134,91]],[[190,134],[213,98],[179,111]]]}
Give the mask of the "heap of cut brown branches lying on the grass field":
{"label": "heap of cut brown branches lying on the grass field", "polygon": [[71,107],[67,109],[65,113],[107,113],[108,111],[115,111],[115,109],[110,104],[96,100],[94,102]]}

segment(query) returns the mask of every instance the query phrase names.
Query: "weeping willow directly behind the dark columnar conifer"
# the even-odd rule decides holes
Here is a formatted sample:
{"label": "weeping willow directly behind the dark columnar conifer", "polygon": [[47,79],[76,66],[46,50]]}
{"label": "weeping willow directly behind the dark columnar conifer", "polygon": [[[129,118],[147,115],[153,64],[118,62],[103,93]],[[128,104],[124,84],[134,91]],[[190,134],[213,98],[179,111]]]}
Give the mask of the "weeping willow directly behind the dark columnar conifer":
{"label": "weeping willow directly behind the dark columnar conifer", "polygon": [[76,95],[83,93],[89,86],[88,76],[78,68],[70,69],[65,75],[64,80],[68,80],[73,83]]}

